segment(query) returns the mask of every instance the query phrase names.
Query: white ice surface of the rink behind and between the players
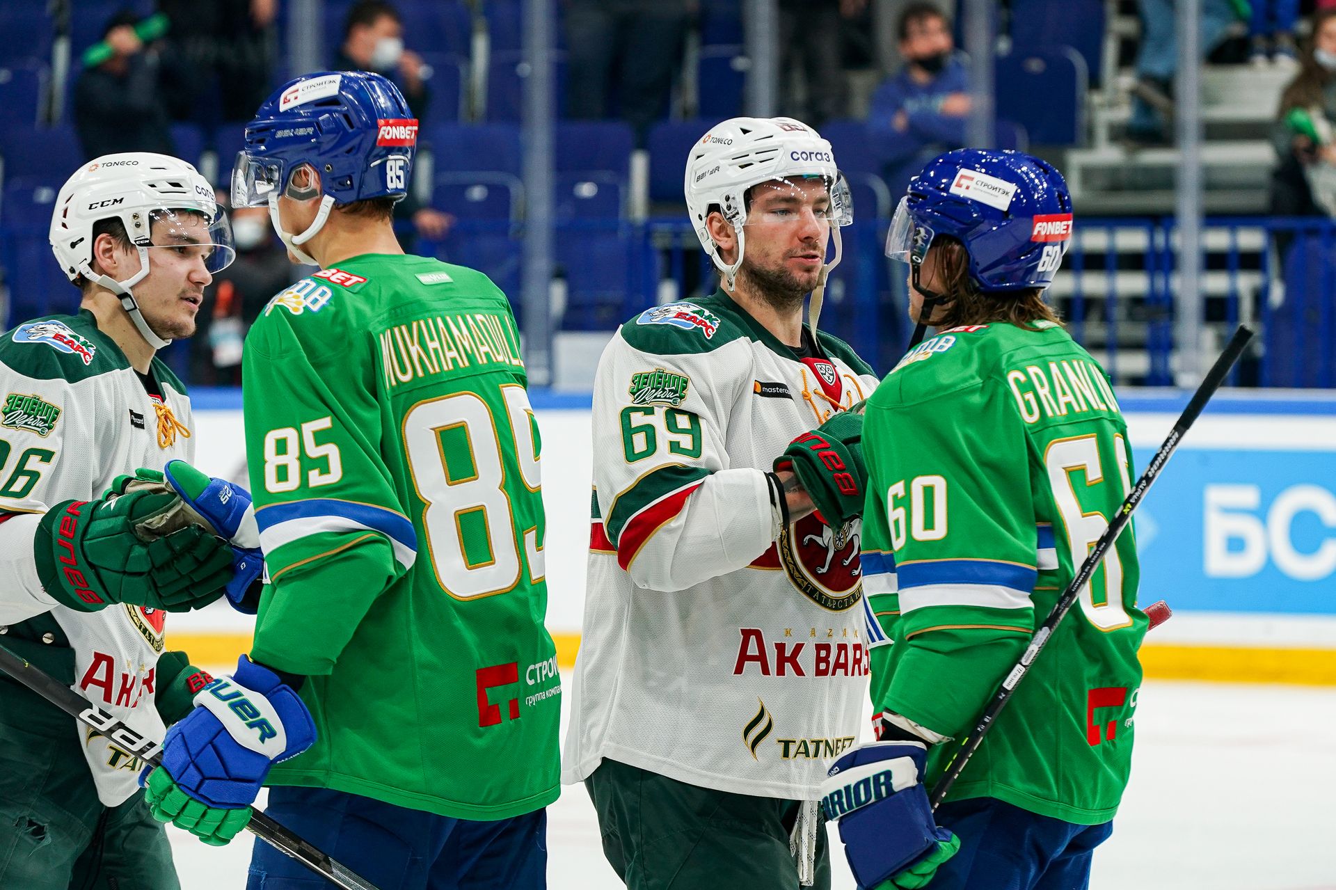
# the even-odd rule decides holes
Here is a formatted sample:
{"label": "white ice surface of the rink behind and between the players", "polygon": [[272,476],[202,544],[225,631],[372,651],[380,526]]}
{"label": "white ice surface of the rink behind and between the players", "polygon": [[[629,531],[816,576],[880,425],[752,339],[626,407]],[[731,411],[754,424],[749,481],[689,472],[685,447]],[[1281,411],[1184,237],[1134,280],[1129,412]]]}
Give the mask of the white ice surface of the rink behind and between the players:
{"label": "white ice surface of the rink behind and between the players", "polygon": [[[1136,719],[1094,890],[1336,890],[1336,688],[1149,682]],[[216,849],[168,831],[184,890],[244,887],[248,834]],[[621,886],[582,787],[549,808],[548,843],[553,890]],[[838,839],[832,853],[834,890],[852,890]]]}

